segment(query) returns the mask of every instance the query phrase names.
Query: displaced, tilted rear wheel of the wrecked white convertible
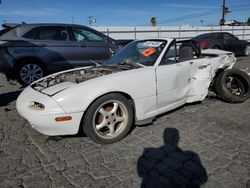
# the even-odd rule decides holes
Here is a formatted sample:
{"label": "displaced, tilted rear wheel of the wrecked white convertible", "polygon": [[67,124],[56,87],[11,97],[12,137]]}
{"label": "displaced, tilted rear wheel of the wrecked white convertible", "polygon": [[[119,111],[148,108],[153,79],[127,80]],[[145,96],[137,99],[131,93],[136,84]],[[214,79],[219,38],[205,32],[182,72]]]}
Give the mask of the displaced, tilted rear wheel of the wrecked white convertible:
{"label": "displaced, tilted rear wheel of the wrecked white convertible", "polygon": [[215,91],[224,101],[241,103],[250,96],[250,78],[238,69],[221,72],[215,80]]}

